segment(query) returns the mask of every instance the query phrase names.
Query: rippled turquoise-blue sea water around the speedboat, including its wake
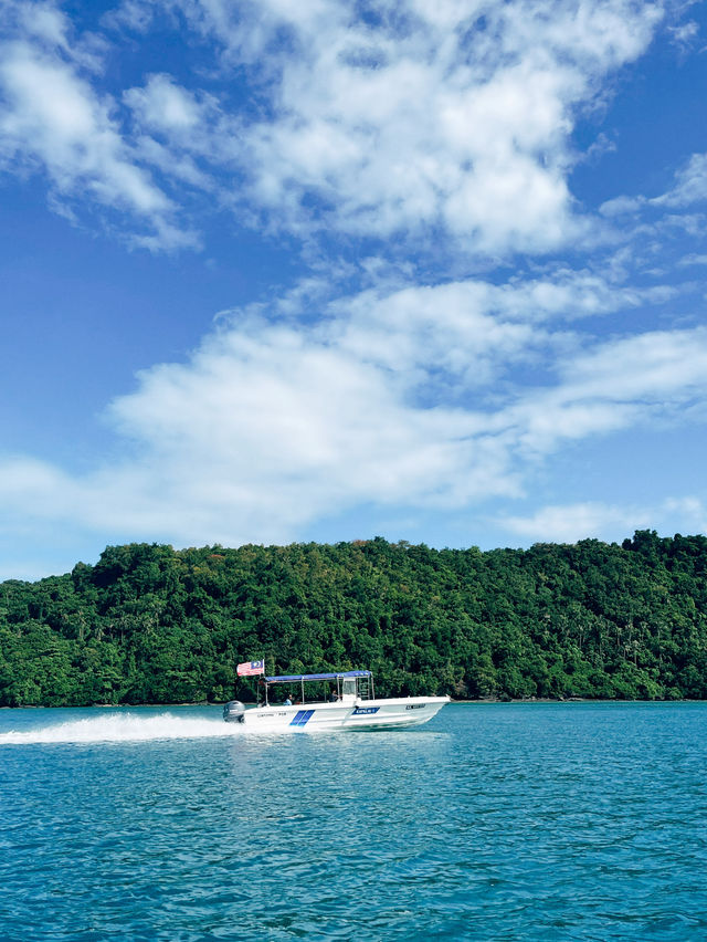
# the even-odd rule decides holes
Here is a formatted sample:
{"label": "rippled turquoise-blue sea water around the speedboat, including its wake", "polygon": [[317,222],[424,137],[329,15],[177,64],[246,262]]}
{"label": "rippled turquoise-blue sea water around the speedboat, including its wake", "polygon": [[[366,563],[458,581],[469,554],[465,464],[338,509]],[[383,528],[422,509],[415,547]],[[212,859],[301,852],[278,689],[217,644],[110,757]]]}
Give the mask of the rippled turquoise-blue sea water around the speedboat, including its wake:
{"label": "rippled turquoise-blue sea water around the speedboat, including its wake", "polygon": [[707,704],[0,711],[0,940],[707,939]]}

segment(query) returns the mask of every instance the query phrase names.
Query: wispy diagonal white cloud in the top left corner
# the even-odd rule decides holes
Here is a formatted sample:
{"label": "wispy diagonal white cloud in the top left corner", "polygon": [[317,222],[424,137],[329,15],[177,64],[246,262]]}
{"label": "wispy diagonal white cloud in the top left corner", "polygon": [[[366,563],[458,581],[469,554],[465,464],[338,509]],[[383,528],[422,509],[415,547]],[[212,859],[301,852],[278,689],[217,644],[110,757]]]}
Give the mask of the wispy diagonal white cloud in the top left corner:
{"label": "wispy diagonal white cloud in the top left corner", "polygon": [[[13,9],[17,4],[11,4]],[[15,9],[17,12],[17,9]],[[54,202],[89,203],[127,213],[155,248],[193,245],[175,221],[176,206],[138,165],[112,115],[82,76],[85,50],[70,49],[68,23],[50,4],[19,7],[15,38],[0,43],[0,158],[6,169],[42,168]]]}

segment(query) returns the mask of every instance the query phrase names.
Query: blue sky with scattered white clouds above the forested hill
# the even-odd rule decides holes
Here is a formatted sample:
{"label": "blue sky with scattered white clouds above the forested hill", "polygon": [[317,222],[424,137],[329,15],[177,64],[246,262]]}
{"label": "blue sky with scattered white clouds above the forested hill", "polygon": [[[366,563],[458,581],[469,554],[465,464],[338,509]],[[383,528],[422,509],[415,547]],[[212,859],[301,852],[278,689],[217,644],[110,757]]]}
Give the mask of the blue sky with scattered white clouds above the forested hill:
{"label": "blue sky with scattered white clouds above the forested hill", "polygon": [[0,578],[707,530],[707,15],[0,10]]}

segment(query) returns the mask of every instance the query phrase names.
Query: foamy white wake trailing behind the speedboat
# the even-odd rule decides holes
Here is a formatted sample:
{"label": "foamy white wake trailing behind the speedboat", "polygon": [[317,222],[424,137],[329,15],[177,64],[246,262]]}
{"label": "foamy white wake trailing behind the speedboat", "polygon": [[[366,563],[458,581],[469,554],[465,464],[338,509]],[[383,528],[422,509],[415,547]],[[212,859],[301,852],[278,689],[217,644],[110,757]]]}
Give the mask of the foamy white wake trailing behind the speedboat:
{"label": "foamy white wake trailing behind the speedboat", "polygon": [[194,740],[214,736],[242,735],[243,728],[224,723],[220,718],[202,720],[159,713],[138,716],[135,713],[107,713],[86,720],[35,728],[10,730],[0,733],[1,745],[31,745],[33,743],[129,743],[157,740]]}

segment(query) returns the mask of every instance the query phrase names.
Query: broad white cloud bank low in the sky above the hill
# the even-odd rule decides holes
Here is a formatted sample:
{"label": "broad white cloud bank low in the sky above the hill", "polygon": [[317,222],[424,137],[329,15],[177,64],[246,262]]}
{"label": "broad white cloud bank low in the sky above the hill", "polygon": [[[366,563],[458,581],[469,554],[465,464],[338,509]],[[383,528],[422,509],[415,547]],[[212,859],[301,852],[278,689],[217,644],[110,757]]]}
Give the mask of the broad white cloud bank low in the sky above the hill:
{"label": "broad white cloud bank low in the sky above the hill", "polygon": [[[573,306],[566,291],[559,307],[549,295],[555,316]],[[81,478],[6,462],[6,514],[179,544],[283,542],[361,504],[519,496],[567,441],[707,401],[704,329],[576,336],[544,386],[516,381],[516,364],[540,369],[559,343],[547,312],[530,329],[534,296],[540,284],[460,282],[327,302],[309,284],[274,305],[279,318],[231,313],[188,363],[146,370],[113,402],[129,459]]]}

